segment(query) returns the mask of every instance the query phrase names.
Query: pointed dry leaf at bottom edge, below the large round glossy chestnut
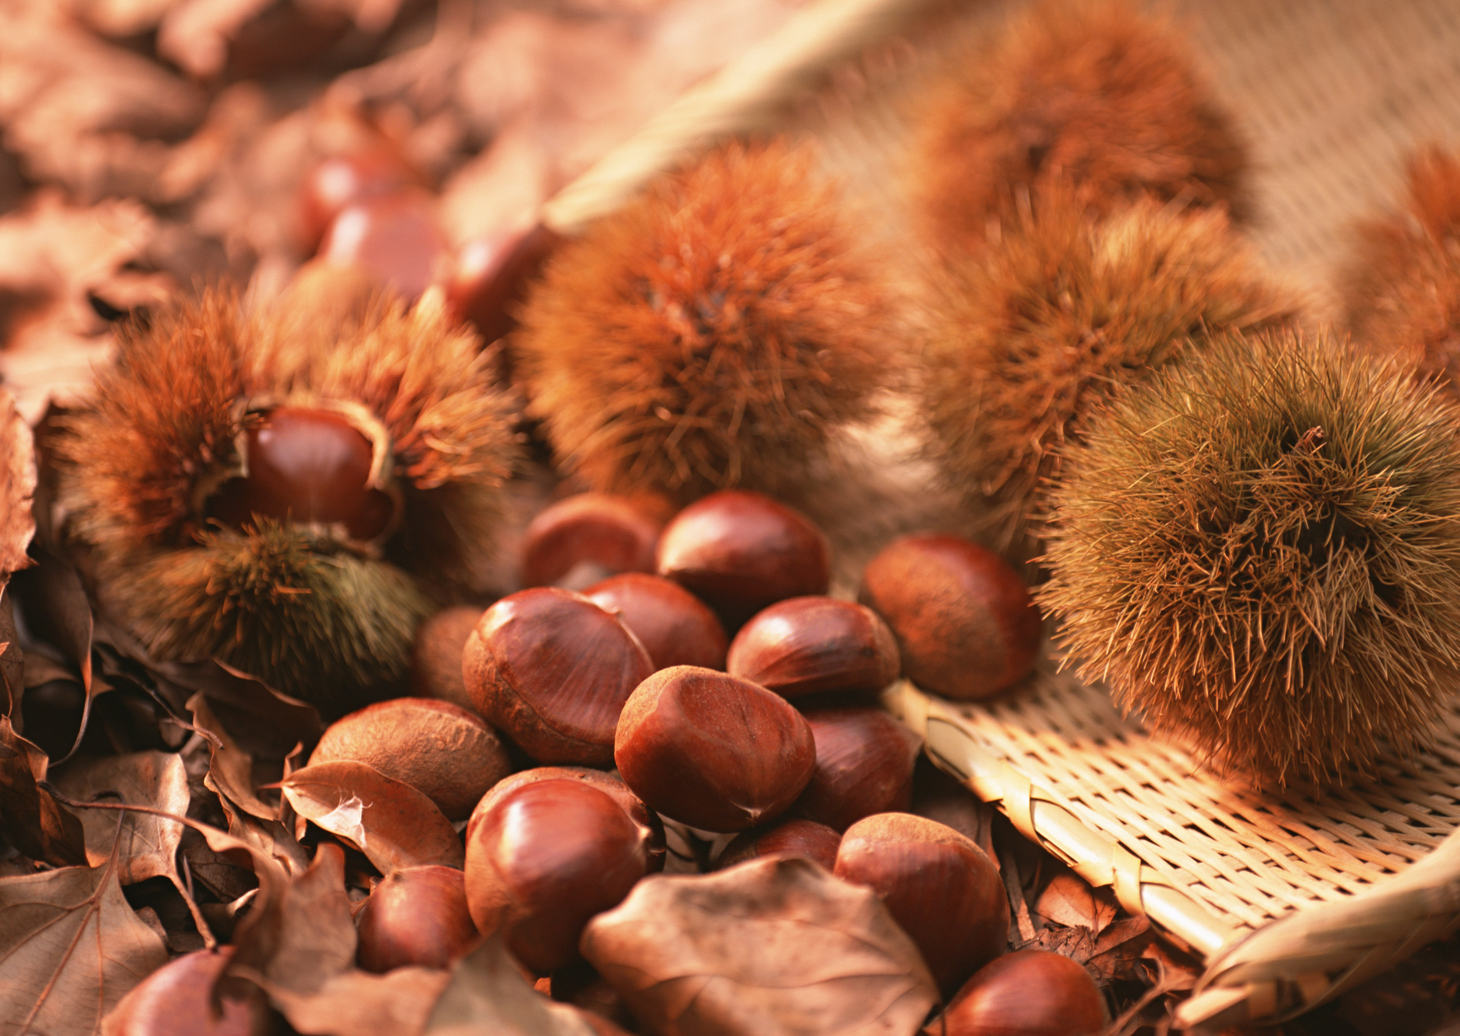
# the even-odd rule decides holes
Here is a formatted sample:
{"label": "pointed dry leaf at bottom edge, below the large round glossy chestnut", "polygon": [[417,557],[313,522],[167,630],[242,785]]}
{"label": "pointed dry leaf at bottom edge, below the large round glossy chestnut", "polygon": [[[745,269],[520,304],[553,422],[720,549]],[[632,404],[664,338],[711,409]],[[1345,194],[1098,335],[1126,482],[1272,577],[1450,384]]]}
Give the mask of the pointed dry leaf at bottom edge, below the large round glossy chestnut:
{"label": "pointed dry leaf at bottom edge, below the large round glossy chestnut", "polygon": [[593,1036],[593,1029],[574,1008],[537,994],[495,932],[457,962],[425,1036]]}

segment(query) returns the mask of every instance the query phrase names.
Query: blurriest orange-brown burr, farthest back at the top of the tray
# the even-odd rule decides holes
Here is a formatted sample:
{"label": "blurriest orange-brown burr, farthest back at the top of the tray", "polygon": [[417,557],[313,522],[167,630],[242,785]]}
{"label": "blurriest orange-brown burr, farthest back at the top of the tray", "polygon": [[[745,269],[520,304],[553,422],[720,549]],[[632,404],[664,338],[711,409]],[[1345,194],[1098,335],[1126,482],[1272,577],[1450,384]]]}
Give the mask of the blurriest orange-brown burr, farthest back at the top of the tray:
{"label": "blurriest orange-brown burr, farthest back at the top of the tray", "polygon": [[1101,212],[1152,194],[1242,213],[1241,140],[1187,41],[1130,0],[1034,4],[924,96],[910,187],[930,238],[955,251],[1056,179]]}

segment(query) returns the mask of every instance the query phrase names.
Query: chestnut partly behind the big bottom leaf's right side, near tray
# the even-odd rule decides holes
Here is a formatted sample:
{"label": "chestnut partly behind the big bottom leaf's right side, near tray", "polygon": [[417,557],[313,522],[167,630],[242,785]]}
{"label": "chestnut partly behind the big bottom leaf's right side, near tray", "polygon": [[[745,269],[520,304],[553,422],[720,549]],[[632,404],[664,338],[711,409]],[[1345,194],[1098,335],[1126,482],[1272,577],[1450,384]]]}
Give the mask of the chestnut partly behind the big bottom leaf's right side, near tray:
{"label": "chestnut partly behind the big bottom leaf's right side, near tray", "polygon": [[840,878],[870,886],[950,995],[1009,940],[1009,897],[984,851],[911,813],[858,820],[837,849]]}

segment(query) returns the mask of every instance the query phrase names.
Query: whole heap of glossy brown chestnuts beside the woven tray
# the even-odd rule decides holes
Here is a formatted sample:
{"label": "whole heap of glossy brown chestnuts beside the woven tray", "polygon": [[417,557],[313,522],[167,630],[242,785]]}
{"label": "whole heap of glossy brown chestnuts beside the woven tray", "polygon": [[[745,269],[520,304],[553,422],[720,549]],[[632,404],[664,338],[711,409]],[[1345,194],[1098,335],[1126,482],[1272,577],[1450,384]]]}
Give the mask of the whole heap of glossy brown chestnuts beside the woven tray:
{"label": "whole heap of glossy brown chestnuts beside the woven tray", "polygon": [[[667,522],[651,503],[568,498],[529,528],[523,568],[558,585],[423,623],[423,697],[345,716],[311,759],[368,762],[469,814],[464,871],[393,871],[365,900],[362,967],[441,966],[499,932],[553,998],[666,1032],[584,960],[594,916],[666,861],[791,855],[880,896],[949,1004],[930,1032],[1099,1030],[1083,967],[1004,956],[997,867],[910,813],[920,743],[876,708],[902,674],[959,699],[1028,676],[1040,620],[1009,565],[904,537],[867,566],[860,604],[837,600],[815,525],[726,490]],[[710,848],[682,854],[666,827]]]}

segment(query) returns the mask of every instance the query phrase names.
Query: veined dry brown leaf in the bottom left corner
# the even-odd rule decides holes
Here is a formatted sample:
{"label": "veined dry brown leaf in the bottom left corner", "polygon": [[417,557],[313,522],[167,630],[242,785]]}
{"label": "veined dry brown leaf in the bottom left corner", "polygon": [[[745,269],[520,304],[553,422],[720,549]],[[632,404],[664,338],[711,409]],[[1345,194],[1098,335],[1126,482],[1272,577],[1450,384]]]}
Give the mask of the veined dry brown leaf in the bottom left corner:
{"label": "veined dry brown leaf in the bottom left corner", "polygon": [[166,960],[111,861],[0,880],[3,1036],[101,1032],[107,1011]]}

